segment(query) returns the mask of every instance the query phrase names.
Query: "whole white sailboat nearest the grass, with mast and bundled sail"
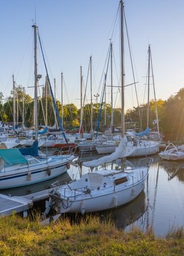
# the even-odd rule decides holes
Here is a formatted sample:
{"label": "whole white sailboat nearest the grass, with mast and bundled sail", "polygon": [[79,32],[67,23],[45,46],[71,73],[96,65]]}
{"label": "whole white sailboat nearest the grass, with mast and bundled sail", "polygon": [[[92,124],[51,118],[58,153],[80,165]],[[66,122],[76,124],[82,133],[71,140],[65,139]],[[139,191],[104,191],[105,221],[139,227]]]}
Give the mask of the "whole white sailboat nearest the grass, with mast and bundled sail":
{"label": "whole white sailboat nearest the grass, with mast and bundled sail", "polygon": [[[125,146],[125,125],[124,125],[124,33],[123,33],[123,1],[121,6],[121,74],[122,74],[122,140],[116,152],[110,156],[98,160],[85,162],[83,165],[93,168],[99,163],[111,162],[118,158],[124,158],[130,152]],[[149,165],[149,164],[148,164]],[[81,179],[74,180],[61,187],[55,187],[50,194],[49,202],[41,219],[44,220],[51,208],[59,214],[62,212],[85,212],[110,209],[128,203],[136,198],[144,189],[144,182],[148,174],[148,165],[125,169],[124,160],[122,169],[101,170],[89,172],[81,176]],[[45,220],[44,220],[45,221]],[[47,221],[47,220],[46,220]]]}

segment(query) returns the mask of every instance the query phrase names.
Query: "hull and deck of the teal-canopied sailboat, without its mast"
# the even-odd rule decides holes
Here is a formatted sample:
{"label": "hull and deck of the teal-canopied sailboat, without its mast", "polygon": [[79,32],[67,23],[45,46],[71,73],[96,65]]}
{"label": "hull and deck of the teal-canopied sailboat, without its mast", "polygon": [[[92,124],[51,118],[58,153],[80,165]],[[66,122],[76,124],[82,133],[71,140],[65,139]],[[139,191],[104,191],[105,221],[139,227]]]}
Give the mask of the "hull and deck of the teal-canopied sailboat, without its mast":
{"label": "hull and deck of the teal-canopied sailboat, without its mast", "polygon": [[72,155],[36,158],[18,150],[0,150],[0,189],[26,186],[53,179],[70,168]]}

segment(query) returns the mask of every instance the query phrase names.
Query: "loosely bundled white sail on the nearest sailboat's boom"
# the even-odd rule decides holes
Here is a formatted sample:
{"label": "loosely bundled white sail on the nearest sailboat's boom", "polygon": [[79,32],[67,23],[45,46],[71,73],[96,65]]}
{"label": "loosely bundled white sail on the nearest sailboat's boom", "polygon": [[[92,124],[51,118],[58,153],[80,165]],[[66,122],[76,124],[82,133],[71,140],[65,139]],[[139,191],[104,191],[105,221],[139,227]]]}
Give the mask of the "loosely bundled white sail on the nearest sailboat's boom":
{"label": "loosely bundled white sail on the nearest sailboat's boom", "polygon": [[113,152],[112,154],[110,154],[108,156],[101,157],[101,158],[93,160],[93,161],[84,162],[82,165],[86,166],[86,167],[95,167],[100,164],[110,163],[113,160],[116,160],[118,158],[127,157],[131,153],[132,153],[131,150],[130,151],[126,150],[125,139],[122,139],[120,141],[119,146],[116,148],[116,151]]}

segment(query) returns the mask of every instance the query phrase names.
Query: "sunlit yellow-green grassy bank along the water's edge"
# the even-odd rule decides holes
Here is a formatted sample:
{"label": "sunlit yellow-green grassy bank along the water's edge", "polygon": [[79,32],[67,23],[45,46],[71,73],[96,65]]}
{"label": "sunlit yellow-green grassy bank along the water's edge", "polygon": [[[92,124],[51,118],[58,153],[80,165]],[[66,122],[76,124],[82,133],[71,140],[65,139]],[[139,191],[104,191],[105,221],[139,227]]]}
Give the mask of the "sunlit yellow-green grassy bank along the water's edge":
{"label": "sunlit yellow-green grassy bank along the water's edge", "polygon": [[183,229],[166,238],[139,229],[117,230],[111,221],[87,217],[73,224],[67,218],[48,226],[18,216],[0,219],[0,254],[52,255],[183,255]]}

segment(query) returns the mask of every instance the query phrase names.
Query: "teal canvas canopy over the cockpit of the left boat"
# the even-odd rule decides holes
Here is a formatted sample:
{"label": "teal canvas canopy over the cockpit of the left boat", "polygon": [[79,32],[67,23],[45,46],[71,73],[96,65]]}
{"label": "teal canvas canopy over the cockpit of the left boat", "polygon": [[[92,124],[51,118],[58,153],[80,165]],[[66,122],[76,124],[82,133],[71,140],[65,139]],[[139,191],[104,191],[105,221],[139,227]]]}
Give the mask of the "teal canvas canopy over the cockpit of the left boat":
{"label": "teal canvas canopy over the cockpit of the left boat", "polygon": [[27,160],[21,155],[18,148],[0,150],[0,157],[8,164],[26,163]]}

